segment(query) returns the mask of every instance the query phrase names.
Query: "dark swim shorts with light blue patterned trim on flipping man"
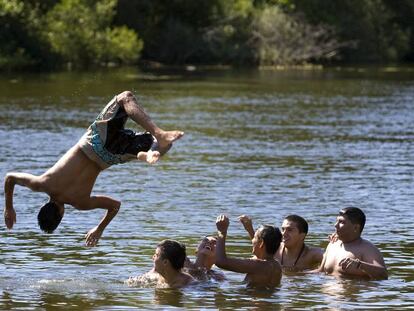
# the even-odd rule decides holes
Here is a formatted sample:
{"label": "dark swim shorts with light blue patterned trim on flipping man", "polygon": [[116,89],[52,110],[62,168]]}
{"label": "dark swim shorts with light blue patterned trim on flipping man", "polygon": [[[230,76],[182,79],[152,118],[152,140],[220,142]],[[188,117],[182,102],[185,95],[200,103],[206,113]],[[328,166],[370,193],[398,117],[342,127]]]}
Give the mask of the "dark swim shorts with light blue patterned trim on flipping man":
{"label": "dark swim shorts with light blue patterned trim on flipping man", "polygon": [[81,150],[102,169],[137,159],[154,142],[149,132],[125,129],[128,115],[116,96],[105,106],[79,140]]}

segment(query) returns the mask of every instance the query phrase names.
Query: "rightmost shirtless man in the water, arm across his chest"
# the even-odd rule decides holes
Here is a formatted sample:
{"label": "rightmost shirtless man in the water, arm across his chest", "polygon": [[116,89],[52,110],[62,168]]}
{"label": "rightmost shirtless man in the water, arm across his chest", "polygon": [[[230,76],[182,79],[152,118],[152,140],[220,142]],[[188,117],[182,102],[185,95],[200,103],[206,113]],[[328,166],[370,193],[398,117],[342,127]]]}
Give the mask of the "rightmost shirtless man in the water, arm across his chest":
{"label": "rightmost shirtless man in the water, arm across his chest", "polygon": [[361,238],[365,214],[357,207],[339,212],[335,223],[336,239],[326,248],[316,272],[358,279],[387,279],[384,259],[371,242]]}

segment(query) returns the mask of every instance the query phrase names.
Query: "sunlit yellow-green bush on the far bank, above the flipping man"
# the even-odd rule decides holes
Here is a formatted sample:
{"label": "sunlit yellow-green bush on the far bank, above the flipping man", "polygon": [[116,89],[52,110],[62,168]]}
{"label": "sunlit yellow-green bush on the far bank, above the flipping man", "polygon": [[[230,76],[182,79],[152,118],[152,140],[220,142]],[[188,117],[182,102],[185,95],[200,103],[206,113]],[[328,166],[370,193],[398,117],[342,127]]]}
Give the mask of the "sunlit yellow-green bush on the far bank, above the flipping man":
{"label": "sunlit yellow-green bush on the far bank, above the flipping man", "polygon": [[52,50],[64,61],[81,67],[135,61],[142,41],[126,27],[110,27],[116,2],[62,0],[45,19],[44,36]]}

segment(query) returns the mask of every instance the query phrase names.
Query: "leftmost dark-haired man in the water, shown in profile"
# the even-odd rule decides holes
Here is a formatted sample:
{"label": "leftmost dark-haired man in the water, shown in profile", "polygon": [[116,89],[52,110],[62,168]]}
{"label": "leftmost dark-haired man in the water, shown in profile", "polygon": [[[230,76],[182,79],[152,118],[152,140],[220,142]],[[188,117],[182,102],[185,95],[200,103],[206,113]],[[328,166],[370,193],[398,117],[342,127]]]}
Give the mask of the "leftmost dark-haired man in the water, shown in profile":
{"label": "leftmost dark-haired man in the water, shown in profile", "polygon": [[191,275],[181,271],[186,257],[184,244],[173,240],[164,240],[158,244],[152,260],[154,271],[161,276],[159,283],[180,288],[194,282]]}

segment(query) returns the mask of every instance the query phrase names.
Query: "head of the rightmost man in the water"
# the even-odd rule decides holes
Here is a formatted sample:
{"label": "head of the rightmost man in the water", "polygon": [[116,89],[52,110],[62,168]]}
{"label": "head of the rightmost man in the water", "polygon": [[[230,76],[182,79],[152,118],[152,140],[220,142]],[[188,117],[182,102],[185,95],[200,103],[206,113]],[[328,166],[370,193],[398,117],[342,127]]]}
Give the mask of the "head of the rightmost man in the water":
{"label": "head of the rightmost man in the water", "polygon": [[335,229],[340,240],[359,237],[365,226],[365,214],[357,207],[346,207],[339,211]]}

